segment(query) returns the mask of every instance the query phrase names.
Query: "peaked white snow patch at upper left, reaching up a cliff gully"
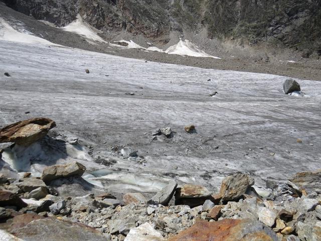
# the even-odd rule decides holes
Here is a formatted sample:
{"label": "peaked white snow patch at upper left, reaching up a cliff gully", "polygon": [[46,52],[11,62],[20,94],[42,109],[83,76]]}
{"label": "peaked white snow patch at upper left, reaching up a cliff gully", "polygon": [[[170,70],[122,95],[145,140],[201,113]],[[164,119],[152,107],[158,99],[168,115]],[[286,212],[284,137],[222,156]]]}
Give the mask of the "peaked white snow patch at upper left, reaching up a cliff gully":
{"label": "peaked white snow patch at upper left, reaching up a cliff gully", "polygon": [[90,26],[86,22],[84,22],[81,19],[80,15],[77,15],[77,19],[74,22],[68,24],[62,29],[68,32],[79,34],[89,40],[98,41],[101,43],[107,43],[101,37],[98,36],[98,34],[102,32]]}

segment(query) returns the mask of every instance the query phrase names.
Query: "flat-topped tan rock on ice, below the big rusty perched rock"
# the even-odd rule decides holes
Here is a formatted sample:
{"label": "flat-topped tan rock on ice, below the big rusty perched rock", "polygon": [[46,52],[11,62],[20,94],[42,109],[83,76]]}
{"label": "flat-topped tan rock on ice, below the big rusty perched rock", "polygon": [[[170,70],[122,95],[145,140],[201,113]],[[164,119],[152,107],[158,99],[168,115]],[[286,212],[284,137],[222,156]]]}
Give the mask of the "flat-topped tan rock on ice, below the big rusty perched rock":
{"label": "flat-topped tan rock on ice, below the big rusty perched rock", "polygon": [[53,165],[46,167],[43,172],[41,179],[44,182],[50,182],[58,178],[66,178],[71,176],[82,176],[86,171],[86,167],[79,162],[72,162],[62,165]]}

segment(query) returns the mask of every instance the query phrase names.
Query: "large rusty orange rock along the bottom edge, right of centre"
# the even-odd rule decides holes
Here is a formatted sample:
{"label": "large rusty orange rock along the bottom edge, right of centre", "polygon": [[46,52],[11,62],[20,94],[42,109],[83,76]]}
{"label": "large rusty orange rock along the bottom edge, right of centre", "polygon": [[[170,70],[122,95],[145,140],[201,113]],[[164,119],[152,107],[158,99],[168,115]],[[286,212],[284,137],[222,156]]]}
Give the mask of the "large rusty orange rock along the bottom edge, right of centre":
{"label": "large rusty orange rock along the bottom edge, right of centre", "polygon": [[168,241],[276,241],[272,229],[250,219],[223,219],[217,222],[198,221]]}

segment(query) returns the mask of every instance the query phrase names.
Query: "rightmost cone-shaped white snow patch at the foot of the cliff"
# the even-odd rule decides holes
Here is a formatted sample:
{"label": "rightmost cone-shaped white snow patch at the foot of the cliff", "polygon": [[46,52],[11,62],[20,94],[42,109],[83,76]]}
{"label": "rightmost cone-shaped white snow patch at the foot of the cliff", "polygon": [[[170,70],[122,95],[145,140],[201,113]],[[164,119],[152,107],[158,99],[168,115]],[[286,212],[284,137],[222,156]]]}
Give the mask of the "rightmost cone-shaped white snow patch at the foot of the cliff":
{"label": "rightmost cone-shaped white snow patch at the foot of the cliff", "polygon": [[214,59],[220,59],[218,57],[209,55],[203,50],[200,50],[195,44],[191,43],[189,40],[180,40],[176,45],[169,47],[165,50],[165,53],[168,54],[177,54],[182,56],[194,56],[194,57],[208,57]]}

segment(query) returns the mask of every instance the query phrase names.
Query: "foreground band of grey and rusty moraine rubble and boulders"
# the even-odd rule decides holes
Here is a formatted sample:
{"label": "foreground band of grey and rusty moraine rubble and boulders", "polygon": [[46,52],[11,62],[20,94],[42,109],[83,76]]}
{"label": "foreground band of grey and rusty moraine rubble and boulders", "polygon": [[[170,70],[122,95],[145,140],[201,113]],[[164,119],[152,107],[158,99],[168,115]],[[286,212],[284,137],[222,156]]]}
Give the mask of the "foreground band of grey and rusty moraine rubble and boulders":
{"label": "foreground band of grey and rusty moraine rubble and boulders", "polygon": [[[51,120],[25,121],[2,129],[0,137],[18,145],[25,138],[30,144],[51,127]],[[157,130],[155,135],[169,133],[169,129]],[[121,154],[135,156],[125,147]],[[151,197],[139,192],[121,197],[92,186],[86,186],[87,194],[77,195],[71,189],[80,190],[84,183],[74,186],[73,182],[87,168],[70,162],[43,168],[41,177],[2,173],[0,236],[36,241],[44,235],[46,240],[321,240],[321,170],[297,173],[264,197],[247,173],[231,173],[215,192],[170,180]],[[69,188],[68,195],[60,193],[59,185]]]}

